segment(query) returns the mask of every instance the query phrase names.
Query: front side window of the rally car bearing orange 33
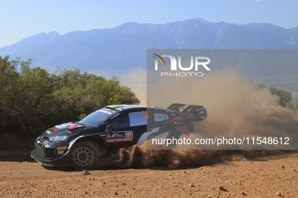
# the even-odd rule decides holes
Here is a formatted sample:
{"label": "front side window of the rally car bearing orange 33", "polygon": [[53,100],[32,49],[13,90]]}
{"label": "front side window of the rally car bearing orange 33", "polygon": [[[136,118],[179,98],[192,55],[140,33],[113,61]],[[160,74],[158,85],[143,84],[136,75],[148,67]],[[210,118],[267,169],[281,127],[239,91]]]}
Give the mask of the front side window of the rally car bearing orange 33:
{"label": "front side window of the rally car bearing orange 33", "polygon": [[132,112],[119,116],[112,121],[112,128],[124,128],[147,125],[147,112]]}

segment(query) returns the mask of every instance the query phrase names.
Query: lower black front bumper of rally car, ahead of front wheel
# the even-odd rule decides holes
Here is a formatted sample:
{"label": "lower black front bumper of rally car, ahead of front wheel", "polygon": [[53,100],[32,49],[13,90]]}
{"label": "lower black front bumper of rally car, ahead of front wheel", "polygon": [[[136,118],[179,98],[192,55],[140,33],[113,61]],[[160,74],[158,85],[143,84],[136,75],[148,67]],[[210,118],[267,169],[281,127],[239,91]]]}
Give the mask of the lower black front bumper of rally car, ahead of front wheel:
{"label": "lower black front bumper of rally car, ahead of front wheel", "polygon": [[67,153],[61,158],[49,160],[40,156],[36,152],[36,149],[34,149],[33,151],[31,151],[31,157],[33,157],[38,163],[44,166],[69,166],[70,153]]}

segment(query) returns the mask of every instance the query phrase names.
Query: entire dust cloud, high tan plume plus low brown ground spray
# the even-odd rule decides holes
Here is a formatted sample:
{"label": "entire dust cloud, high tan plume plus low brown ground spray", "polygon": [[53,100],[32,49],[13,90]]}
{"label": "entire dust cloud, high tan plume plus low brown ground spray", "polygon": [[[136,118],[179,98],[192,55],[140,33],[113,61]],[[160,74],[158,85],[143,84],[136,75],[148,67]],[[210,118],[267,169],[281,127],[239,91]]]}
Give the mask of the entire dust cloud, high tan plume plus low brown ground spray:
{"label": "entire dust cloud, high tan plume plus low brown ground spray", "polygon": [[[267,88],[259,88],[256,83],[244,80],[234,69],[215,70],[199,78],[184,78],[180,81],[172,79],[160,78],[156,82],[158,86],[147,89],[150,106],[163,106],[165,109],[173,103],[202,105],[208,112],[205,120],[194,123],[196,134],[181,137],[289,137],[290,142],[298,142],[298,116],[279,106],[279,98]],[[147,101],[142,103],[146,105]],[[243,160],[247,157],[295,152],[281,151],[292,149],[284,145],[242,147],[246,150],[237,150],[239,148],[234,147],[223,150],[194,150],[198,149],[195,147],[188,150],[147,150],[146,144],[147,142],[142,146],[121,149],[115,160],[105,161],[101,168],[165,166],[176,169],[223,160]],[[176,149],[185,147],[177,145]]]}

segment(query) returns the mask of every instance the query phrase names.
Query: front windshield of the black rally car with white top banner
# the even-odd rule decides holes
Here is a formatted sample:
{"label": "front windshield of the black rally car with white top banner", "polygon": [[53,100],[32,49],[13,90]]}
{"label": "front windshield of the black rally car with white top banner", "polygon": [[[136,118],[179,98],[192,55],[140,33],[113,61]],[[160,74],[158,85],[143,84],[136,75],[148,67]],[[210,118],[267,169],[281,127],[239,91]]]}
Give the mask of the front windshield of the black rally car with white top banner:
{"label": "front windshield of the black rally car with white top banner", "polygon": [[106,119],[115,115],[116,112],[118,112],[118,110],[100,109],[80,120],[78,124],[96,127],[103,123]]}

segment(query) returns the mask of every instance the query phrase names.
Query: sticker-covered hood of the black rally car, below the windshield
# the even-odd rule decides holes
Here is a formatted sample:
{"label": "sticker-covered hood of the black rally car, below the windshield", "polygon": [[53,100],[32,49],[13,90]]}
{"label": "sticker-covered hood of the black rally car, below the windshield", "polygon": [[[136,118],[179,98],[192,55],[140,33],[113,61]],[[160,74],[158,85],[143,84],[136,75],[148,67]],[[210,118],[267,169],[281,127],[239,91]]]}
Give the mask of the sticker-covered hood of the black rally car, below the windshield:
{"label": "sticker-covered hood of the black rally car, below the windshield", "polygon": [[45,132],[43,132],[42,136],[46,138],[52,138],[61,135],[70,135],[71,133],[80,131],[84,128],[86,128],[84,125],[65,123],[47,129]]}

